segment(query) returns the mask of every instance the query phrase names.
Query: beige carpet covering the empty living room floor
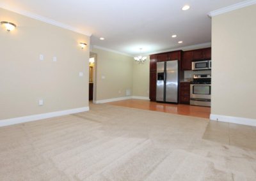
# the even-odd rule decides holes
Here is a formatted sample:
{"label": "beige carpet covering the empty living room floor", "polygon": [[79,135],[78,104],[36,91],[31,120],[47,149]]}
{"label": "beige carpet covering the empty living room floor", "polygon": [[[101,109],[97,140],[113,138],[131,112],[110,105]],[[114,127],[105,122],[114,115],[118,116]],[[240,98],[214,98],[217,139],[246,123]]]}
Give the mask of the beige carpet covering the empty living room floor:
{"label": "beige carpet covering the empty living room floor", "polygon": [[90,108],[1,127],[0,180],[256,180],[256,150],[208,139],[207,119]]}

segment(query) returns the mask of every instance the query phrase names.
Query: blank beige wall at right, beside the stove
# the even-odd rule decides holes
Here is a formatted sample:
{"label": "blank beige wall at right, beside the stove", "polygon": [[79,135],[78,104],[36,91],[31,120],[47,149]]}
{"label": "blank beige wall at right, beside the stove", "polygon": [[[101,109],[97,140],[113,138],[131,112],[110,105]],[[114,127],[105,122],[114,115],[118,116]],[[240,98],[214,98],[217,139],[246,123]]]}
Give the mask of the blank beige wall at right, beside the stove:
{"label": "blank beige wall at right, beside the stove", "polygon": [[256,5],[212,18],[211,113],[256,119]]}

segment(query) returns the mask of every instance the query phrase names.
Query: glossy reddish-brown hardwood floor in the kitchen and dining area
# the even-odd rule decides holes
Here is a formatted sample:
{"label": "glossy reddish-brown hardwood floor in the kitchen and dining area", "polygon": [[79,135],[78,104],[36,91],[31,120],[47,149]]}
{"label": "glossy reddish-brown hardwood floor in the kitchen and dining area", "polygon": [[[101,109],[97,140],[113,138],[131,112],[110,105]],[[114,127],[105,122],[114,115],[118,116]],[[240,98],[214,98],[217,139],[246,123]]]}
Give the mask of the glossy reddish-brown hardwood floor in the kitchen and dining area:
{"label": "glossy reddish-brown hardwood floor in the kitchen and dining area", "polygon": [[129,99],[124,101],[115,101],[109,105],[124,106],[129,108],[138,108],[141,110],[152,110],[156,112],[176,113],[179,115],[189,115],[193,117],[209,118],[211,108],[190,105],[173,105],[166,103],[156,103],[147,100]]}

